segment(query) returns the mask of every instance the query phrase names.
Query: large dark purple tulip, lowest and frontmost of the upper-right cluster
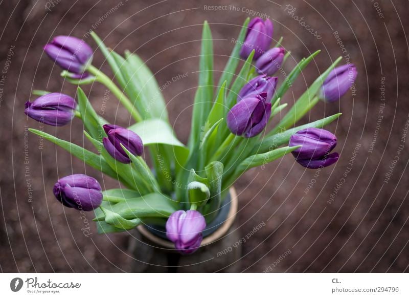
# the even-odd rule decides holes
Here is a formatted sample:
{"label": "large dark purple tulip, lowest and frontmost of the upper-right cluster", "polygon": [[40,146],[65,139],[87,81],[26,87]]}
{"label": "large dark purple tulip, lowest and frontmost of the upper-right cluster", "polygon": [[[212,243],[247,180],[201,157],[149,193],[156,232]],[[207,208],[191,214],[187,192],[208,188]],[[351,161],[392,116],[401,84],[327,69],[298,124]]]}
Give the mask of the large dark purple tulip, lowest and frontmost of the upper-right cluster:
{"label": "large dark purple tulip, lowest and frontmost of the upper-right cluster", "polygon": [[271,115],[267,93],[240,100],[227,115],[227,126],[232,134],[251,138],[261,133]]}

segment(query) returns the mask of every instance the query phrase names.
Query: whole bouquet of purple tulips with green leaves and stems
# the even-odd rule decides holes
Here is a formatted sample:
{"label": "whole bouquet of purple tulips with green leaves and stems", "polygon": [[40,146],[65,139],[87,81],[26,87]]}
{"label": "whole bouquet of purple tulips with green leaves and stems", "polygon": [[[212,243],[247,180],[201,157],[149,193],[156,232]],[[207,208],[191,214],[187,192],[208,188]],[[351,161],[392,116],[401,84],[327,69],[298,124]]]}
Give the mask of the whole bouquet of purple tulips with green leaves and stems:
{"label": "whole bouquet of purple tulips with green leaves and stems", "polygon": [[[25,113],[54,126],[79,118],[95,152],[39,130],[30,131],[124,186],[102,190],[93,177],[75,174],[55,183],[57,200],[66,207],[94,210],[100,233],[121,232],[140,224],[161,226],[176,250],[188,254],[200,247],[203,231],[218,215],[229,188],[248,169],[289,153],[307,168],[335,163],[338,154],[331,151],[336,137],[322,127],[340,114],[301,126],[296,123],[320,99],[335,101],[352,88],[356,69],[351,64],[336,67],[339,57],[287,109],[287,103],[280,99],[320,51],[303,58],[279,83],[273,75],[283,70],[290,52],[281,47],[282,38],[269,49],[272,33],[270,20],[246,19],[215,83],[212,34],[209,24],[203,24],[198,88],[187,145],[176,138],[158,83],[140,57],[129,51],[121,56],[92,32],[112,70],[111,79],[92,65],[93,50],[83,40],[55,37],[44,51],[63,69],[61,76],[78,85],[76,99],[36,91],[41,96],[26,103]],[[96,113],[80,88],[95,82],[118,98],[134,124],[121,127]],[[278,124],[267,129],[269,121],[285,110]],[[151,166],[144,152],[149,152]]]}

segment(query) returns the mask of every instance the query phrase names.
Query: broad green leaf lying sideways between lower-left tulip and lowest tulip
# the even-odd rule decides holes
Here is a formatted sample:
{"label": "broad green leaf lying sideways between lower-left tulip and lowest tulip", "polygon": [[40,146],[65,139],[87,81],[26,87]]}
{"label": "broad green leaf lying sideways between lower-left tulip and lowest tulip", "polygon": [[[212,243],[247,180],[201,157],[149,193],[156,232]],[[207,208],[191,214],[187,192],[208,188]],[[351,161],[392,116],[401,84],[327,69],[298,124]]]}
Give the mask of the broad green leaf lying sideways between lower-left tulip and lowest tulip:
{"label": "broad green leaf lying sideways between lower-left tulip and lowest tulip", "polygon": [[[144,217],[168,218],[177,210],[178,206],[169,197],[159,193],[152,193],[139,198],[129,198],[115,205],[104,206],[104,208],[120,215],[124,219],[132,220]],[[103,212],[102,214],[98,212],[94,221],[102,220],[105,220],[105,215]]]}

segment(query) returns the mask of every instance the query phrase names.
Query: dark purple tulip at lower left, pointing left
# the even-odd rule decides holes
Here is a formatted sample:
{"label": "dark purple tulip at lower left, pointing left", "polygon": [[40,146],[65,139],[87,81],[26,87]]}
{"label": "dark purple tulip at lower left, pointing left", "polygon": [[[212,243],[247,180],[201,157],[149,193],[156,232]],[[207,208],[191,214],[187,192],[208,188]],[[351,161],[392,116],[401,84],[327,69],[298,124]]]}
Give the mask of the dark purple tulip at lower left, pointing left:
{"label": "dark purple tulip at lower left, pointing left", "polygon": [[92,211],[102,203],[101,185],[87,175],[66,176],[54,185],[54,196],[64,206],[77,210]]}

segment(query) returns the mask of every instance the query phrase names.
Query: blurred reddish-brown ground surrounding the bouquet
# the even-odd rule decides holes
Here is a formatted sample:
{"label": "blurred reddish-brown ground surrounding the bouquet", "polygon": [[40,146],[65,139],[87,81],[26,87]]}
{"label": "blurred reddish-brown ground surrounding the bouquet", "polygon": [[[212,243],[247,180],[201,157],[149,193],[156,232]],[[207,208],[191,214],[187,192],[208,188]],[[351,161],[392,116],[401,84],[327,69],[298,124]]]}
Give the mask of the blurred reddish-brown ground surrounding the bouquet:
{"label": "blurred reddish-brown ground surrounding the bouquet", "polygon": [[[17,4],[18,3],[18,4]],[[47,4],[49,3],[49,4]],[[265,13],[274,22],[274,38],[284,36],[283,45],[292,52],[285,66],[289,72],[294,61],[316,49],[322,53],[303,72],[283,99],[293,102],[319,72],[342,55],[333,32],[338,31],[351,62],[359,75],[356,95],[347,94],[333,104],[319,103],[302,122],[316,120],[338,111],[339,121],[328,126],[338,137],[341,158],[324,169],[319,177],[294,163],[292,156],[268,164],[264,169],[249,171],[237,183],[240,211],[237,221],[245,236],[254,226],[265,222],[253,237],[243,244],[240,270],[261,272],[402,272],[408,271],[409,143],[402,140],[402,130],[409,117],[408,44],[409,13],[407,1],[176,1],[155,4],[154,1],[3,1],[0,4],[0,69],[6,69],[1,86],[1,208],[0,271],[128,271],[131,259],[125,254],[126,233],[83,236],[84,222],[75,210],[63,208],[52,195],[58,176],[73,172],[86,173],[102,181],[92,168],[29,135],[25,164],[25,125],[38,128],[39,123],[23,113],[24,103],[32,89],[47,89],[74,94],[75,89],[63,83],[60,69],[43,55],[42,46],[58,34],[82,37],[93,24],[108,46],[118,52],[136,51],[156,74],[162,85],[172,77],[187,73],[164,90],[170,119],[178,138],[186,142],[189,134],[191,104],[197,83],[201,24],[207,19],[213,32],[215,66],[221,70],[233,47],[244,18],[245,9]],[[111,10],[117,5],[117,9]],[[234,5],[238,8],[211,11],[205,6]],[[286,10],[304,17],[306,25],[322,38],[311,35]],[[50,11],[46,9],[50,8]],[[148,7],[150,6],[150,7]],[[244,11],[242,11],[244,8]],[[289,7],[287,7],[288,9]],[[107,15],[107,12],[111,13]],[[383,14],[380,15],[380,13]],[[104,16],[106,15],[106,17]],[[87,39],[95,49],[95,44]],[[12,49],[13,56],[9,55]],[[345,55],[345,54],[344,54]],[[103,59],[98,52],[95,65]],[[345,61],[345,59],[344,59]],[[106,65],[103,70],[108,71]],[[385,108],[379,114],[381,77],[385,84]],[[104,87],[84,88],[98,111],[102,107]],[[117,110],[117,100],[107,101],[110,121],[127,124],[128,114]],[[379,134],[370,153],[377,129],[378,115],[383,116]],[[43,127],[44,131],[77,144],[84,142],[80,121],[70,126]],[[337,183],[343,178],[357,143],[361,144],[352,170],[328,203]],[[404,144],[392,177],[384,183],[385,173]],[[89,144],[86,144],[89,147]],[[26,166],[28,166],[26,174]],[[28,197],[26,179],[31,179],[33,199]],[[104,178],[106,187],[115,182]],[[309,183],[313,187],[305,194]],[[310,184],[311,185],[311,184]],[[88,220],[92,215],[88,216]],[[272,263],[286,251],[291,253],[276,266]]]}

